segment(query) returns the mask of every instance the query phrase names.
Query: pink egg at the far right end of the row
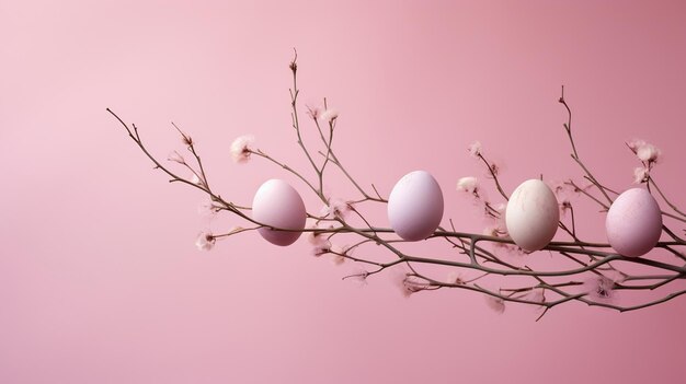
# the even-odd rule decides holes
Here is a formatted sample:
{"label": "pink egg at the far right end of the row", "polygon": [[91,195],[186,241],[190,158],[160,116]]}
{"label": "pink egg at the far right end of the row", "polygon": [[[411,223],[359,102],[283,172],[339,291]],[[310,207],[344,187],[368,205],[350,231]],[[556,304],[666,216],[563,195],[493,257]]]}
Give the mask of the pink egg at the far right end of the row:
{"label": "pink egg at the far right end of the row", "polygon": [[629,257],[645,255],[660,241],[660,206],[648,190],[629,189],[609,207],[605,230],[609,245],[618,254]]}

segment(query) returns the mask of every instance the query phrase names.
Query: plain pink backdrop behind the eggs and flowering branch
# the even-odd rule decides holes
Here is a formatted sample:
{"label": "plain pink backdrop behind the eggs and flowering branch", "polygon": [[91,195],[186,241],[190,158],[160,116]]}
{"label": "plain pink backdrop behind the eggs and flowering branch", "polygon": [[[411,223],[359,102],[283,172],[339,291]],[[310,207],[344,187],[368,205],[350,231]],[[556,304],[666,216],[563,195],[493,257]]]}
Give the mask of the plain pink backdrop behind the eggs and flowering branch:
{"label": "plain pink backdrop behind the eggs and flowering branch", "polygon": [[[579,178],[565,84],[598,177],[629,187],[624,141],[649,140],[665,153],[654,176],[685,207],[685,14],[679,1],[0,2],[0,382],[682,382],[683,298],[626,314],[569,304],[535,323],[469,292],[405,300],[385,276],[341,281],[355,267],[312,258],[304,240],[248,233],[199,253],[199,230],[241,223],[198,217],[203,197],[152,171],[105,107],[161,158],[181,149],[169,121],[181,125],[214,186],[249,203],[285,175],[232,164],[235,137],[306,165],[289,128],[297,47],[301,101],[341,110],[351,172],[388,194],[425,168],[446,219],[480,232],[454,190],[482,175],[471,141],[510,190]],[[344,185],[328,184],[355,197]],[[584,220],[603,241],[603,217]]]}

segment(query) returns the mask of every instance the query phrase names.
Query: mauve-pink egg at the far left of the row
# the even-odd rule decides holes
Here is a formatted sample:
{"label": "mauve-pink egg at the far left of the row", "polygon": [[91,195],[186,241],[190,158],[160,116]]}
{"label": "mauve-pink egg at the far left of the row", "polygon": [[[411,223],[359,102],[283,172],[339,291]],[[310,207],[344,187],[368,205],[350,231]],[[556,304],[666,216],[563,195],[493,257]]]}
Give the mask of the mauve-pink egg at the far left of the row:
{"label": "mauve-pink egg at the far left of the row", "polygon": [[[271,228],[258,230],[267,242],[281,246],[295,243],[305,229],[307,213],[302,198],[288,183],[281,179],[266,181],[252,200],[252,218]],[[275,231],[272,228],[288,231]]]}

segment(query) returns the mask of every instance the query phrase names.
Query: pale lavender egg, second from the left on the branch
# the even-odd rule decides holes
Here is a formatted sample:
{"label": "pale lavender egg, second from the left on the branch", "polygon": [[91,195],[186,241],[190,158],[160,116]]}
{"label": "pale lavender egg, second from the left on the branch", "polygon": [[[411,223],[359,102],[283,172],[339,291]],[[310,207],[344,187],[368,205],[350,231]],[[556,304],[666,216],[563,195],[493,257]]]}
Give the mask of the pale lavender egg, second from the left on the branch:
{"label": "pale lavender egg, second from the left on the branch", "polygon": [[443,193],[428,172],[414,171],[402,176],[388,197],[388,221],[407,241],[428,237],[443,219]]}

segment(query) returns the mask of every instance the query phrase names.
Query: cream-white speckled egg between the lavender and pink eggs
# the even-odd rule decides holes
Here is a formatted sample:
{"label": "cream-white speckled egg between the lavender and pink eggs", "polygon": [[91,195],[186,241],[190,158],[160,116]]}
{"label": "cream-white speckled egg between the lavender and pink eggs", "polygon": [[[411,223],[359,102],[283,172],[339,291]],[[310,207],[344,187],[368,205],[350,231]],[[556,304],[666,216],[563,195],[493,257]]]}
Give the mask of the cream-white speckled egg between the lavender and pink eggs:
{"label": "cream-white speckled egg between the lavender and pink eggs", "polygon": [[507,201],[507,233],[524,251],[539,251],[548,245],[558,231],[559,221],[558,200],[546,183],[539,179],[522,183]]}

